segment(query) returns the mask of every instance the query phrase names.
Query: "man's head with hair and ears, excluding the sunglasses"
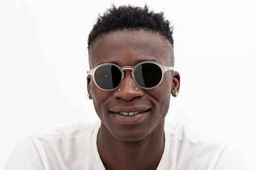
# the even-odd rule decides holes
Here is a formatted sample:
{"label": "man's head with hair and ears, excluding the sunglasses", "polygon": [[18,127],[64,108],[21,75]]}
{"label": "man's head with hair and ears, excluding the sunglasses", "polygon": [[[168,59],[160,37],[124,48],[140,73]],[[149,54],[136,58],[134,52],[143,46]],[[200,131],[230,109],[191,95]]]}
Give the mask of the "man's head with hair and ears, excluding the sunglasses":
{"label": "man's head with hair and ears, excluding the sunglasses", "polygon": [[[143,61],[173,66],[172,29],[162,13],[149,12],[146,6],[113,6],[99,17],[89,35],[90,67],[104,63],[135,66]],[[101,130],[118,140],[141,140],[161,133],[170,95],[179,92],[179,73],[167,71],[157,87],[145,89],[135,83],[132,70],[123,72],[118,89],[110,91],[97,87],[88,76],[88,93],[102,121]]]}

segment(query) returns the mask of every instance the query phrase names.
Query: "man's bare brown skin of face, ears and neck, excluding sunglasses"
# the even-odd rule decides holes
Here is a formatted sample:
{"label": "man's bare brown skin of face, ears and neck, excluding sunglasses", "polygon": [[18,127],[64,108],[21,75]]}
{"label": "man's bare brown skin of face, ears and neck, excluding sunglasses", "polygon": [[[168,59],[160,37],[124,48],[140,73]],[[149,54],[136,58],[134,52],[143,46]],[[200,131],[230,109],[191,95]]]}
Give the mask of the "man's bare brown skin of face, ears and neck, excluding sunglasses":
{"label": "man's bare brown skin of face, ears and neck, excluding sunglasses", "polygon": [[[172,46],[166,45],[158,33],[144,30],[115,31],[101,36],[89,55],[92,68],[102,63],[135,66],[142,61],[171,66],[171,57]],[[105,168],[156,169],[164,150],[164,117],[170,95],[179,92],[179,73],[165,72],[162,83],[148,90],[134,82],[131,70],[124,70],[120,91],[99,89],[91,75],[87,80],[88,94],[102,122],[97,146]],[[129,117],[116,113],[141,110],[147,111]]]}

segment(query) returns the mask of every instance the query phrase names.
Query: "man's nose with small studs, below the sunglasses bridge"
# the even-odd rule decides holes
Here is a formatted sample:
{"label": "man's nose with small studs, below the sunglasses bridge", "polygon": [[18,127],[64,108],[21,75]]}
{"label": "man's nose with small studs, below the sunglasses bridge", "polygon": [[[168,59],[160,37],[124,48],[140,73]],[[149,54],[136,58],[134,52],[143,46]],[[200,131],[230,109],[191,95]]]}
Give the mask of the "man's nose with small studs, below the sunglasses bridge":
{"label": "man's nose with small studs, below the sunglasses bridge", "polygon": [[[119,86],[118,90],[114,93],[116,99],[124,99],[130,101],[133,98],[142,97],[144,90],[141,89],[132,78],[132,70],[123,70],[124,78],[123,82]],[[120,90],[119,90],[120,89]]]}

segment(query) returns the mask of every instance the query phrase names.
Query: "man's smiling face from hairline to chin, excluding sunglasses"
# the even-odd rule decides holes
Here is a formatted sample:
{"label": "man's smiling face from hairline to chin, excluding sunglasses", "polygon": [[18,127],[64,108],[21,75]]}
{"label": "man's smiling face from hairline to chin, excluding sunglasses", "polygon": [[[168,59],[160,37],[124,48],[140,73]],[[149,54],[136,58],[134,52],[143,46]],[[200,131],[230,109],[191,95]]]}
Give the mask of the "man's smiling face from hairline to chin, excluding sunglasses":
{"label": "man's smiling face from hairline to chin, excluding sunglasses", "polygon": [[[95,41],[90,51],[90,64],[92,68],[103,63],[122,67],[155,61],[170,66],[173,49],[164,41],[158,33],[149,31],[115,31]],[[91,75],[88,76],[88,93],[92,95],[95,110],[102,121],[101,130],[108,130],[119,140],[140,140],[154,133],[158,125],[164,123],[174,87],[172,71],[165,72],[159,86],[148,90],[134,82],[131,72],[124,70],[122,84],[112,91],[99,89]],[[136,111],[144,112],[132,116],[119,113]]]}

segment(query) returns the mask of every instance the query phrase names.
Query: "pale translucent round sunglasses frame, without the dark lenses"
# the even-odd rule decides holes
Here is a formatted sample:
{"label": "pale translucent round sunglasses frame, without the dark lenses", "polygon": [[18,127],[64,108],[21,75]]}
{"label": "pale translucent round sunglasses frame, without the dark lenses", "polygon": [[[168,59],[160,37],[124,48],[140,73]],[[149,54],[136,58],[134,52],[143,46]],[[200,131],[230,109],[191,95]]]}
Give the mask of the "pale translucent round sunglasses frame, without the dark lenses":
{"label": "pale translucent round sunglasses frame, without the dark lenses", "polygon": [[[153,64],[159,66],[159,67],[161,68],[161,70],[162,70],[162,78],[161,78],[161,81],[160,81],[156,86],[154,86],[154,87],[150,87],[150,88],[142,87],[141,85],[139,85],[139,84],[137,83],[137,81],[136,81],[136,79],[135,79],[134,70],[135,70],[139,65],[144,64],[144,63],[153,63]],[[113,65],[113,66],[116,66],[116,67],[121,71],[121,74],[122,74],[121,81],[120,81],[119,85],[118,85],[117,87],[115,87],[114,89],[109,89],[109,90],[103,89],[103,88],[101,88],[101,87],[96,83],[96,81],[95,81],[95,78],[94,78],[94,73],[95,73],[95,71],[96,71],[99,67],[105,66],[105,65]],[[124,78],[124,72],[123,72],[123,70],[127,70],[127,69],[132,70],[132,78],[133,78],[134,82],[135,82],[139,87],[141,87],[141,88],[143,88],[143,89],[153,89],[153,88],[156,88],[157,86],[159,86],[159,85],[161,84],[161,82],[162,82],[162,80],[163,80],[163,77],[164,77],[164,73],[165,73],[166,71],[169,71],[169,70],[174,70],[174,67],[163,66],[163,65],[161,65],[161,64],[159,64],[159,63],[156,63],[156,62],[153,62],[153,61],[144,61],[144,62],[141,62],[141,63],[137,64],[136,66],[124,66],[124,67],[120,67],[120,66],[118,66],[118,65],[116,65],[116,64],[113,64],[113,63],[104,63],[104,64],[100,64],[100,65],[96,66],[96,67],[93,68],[92,70],[88,70],[88,71],[87,71],[87,74],[89,74],[89,75],[91,75],[91,76],[93,77],[94,83],[96,84],[96,86],[97,86],[99,89],[104,90],[104,91],[112,91],[112,90],[117,89],[117,88],[122,84],[123,78]]]}

